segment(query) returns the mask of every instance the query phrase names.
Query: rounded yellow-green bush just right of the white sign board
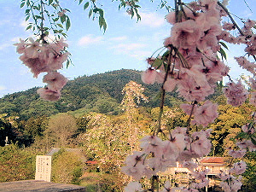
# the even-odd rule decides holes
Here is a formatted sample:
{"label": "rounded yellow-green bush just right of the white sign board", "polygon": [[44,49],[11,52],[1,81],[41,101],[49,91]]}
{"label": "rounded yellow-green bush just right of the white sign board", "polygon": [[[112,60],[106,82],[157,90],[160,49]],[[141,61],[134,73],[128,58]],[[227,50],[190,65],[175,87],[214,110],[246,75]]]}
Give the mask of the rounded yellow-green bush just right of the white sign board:
{"label": "rounded yellow-green bush just right of the white sign board", "polygon": [[52,181],[55,183],[79,184],[82,176],[81,156],[61,149],[52,162]]}

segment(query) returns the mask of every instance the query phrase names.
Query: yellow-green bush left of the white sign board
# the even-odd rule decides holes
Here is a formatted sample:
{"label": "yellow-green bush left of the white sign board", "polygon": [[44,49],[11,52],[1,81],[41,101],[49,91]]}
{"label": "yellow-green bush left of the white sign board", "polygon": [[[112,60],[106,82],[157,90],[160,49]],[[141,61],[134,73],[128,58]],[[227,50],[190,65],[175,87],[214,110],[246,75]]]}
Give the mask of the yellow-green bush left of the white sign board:
{"label": "yellow-green bush left of the white sign board", "polygon": [[11,144],[0,147],[0,182],[35,178],[36,155]]}

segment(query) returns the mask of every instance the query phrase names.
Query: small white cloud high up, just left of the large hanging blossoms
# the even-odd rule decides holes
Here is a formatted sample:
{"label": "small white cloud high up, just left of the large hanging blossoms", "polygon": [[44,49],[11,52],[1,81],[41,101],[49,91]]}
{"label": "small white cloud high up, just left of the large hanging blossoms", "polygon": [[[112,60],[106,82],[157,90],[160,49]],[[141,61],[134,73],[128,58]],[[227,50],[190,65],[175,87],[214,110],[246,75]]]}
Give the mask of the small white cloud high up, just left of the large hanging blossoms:
{"label": "small white cloud high up, just left of the large hanging blossoms", "polygon": [[140,12],[142,20],[138,22],[138,25],[148,26],[148,27],[160,27],[166,23],[163,16],[156,13],[143,13]]}

